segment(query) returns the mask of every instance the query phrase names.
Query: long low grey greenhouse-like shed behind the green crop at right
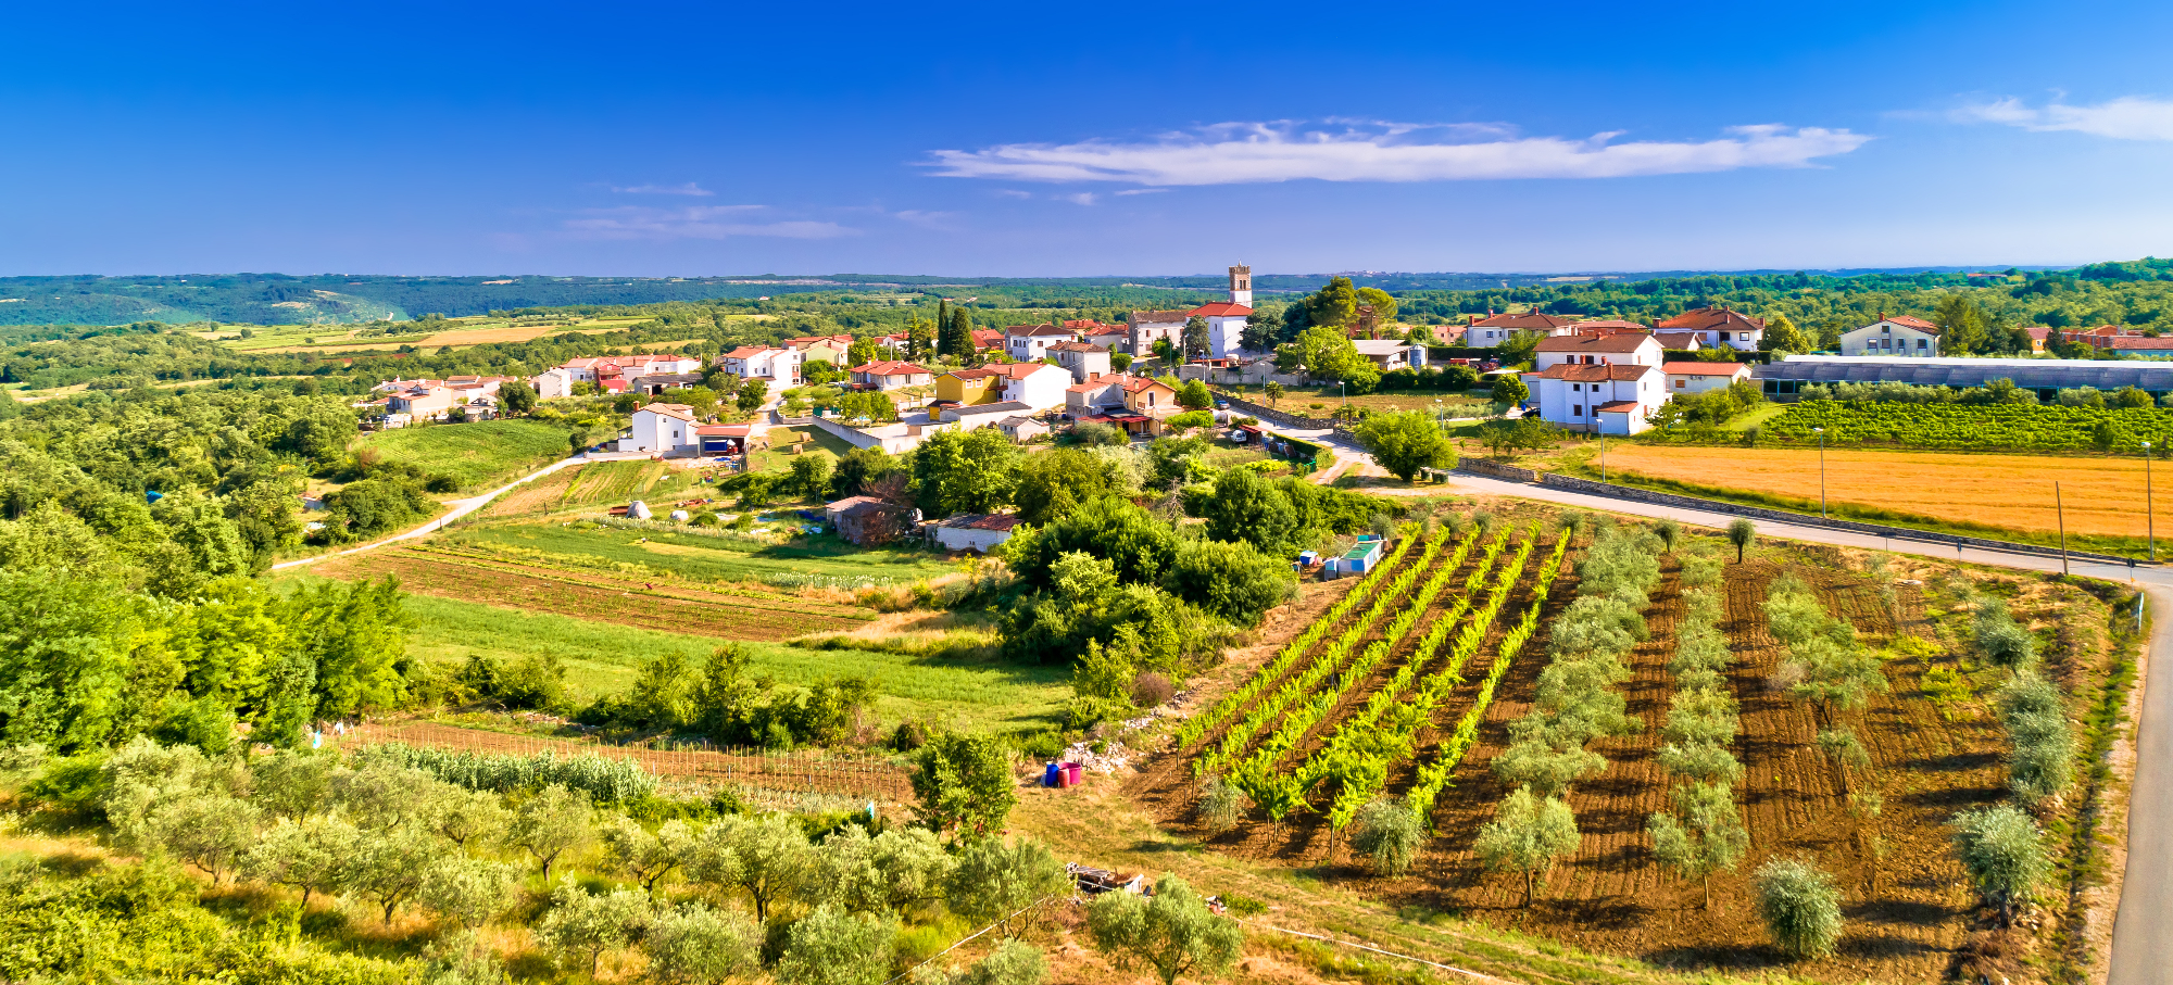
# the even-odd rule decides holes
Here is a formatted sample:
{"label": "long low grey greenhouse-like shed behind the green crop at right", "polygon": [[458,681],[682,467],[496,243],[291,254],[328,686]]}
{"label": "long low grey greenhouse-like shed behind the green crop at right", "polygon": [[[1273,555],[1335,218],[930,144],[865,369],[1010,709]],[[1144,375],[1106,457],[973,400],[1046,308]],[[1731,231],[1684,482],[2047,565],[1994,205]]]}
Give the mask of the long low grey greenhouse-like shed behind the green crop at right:
{"label": "long low grey greenhouse-like shed behind the green crop at right", "polygon": [[2014,386],[2053,399],[2058,391],[2134,386],[2162,397],[2173,393],[2173,364],[2112,360],[1980,360],[1980,358],[1891,358],[1891,356],[1788,356],[1751,369],[1751,380],[1775,399],[1795,399],[1804,384],[1914,384],[1984,386],[2014,380]]}

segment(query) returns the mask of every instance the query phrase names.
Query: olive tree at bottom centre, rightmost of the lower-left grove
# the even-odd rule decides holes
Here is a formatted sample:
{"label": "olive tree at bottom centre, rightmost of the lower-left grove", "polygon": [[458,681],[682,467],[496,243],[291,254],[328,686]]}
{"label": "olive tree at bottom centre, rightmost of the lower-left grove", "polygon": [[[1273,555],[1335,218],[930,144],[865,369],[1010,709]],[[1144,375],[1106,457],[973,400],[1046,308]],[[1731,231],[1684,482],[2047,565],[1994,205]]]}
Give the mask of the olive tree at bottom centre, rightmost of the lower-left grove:
{"label": "olive tree at bottom centre, rightmost of the lower-left grove", "polygon": [[1182,879],[1165,874],[1154,896],[1106,892],[1086,905],[1093,946],[1117,970],[1147,968],[1163,985],[1180,976],[1217,976],[1245,946],[1245,931],[1208,911]]}

